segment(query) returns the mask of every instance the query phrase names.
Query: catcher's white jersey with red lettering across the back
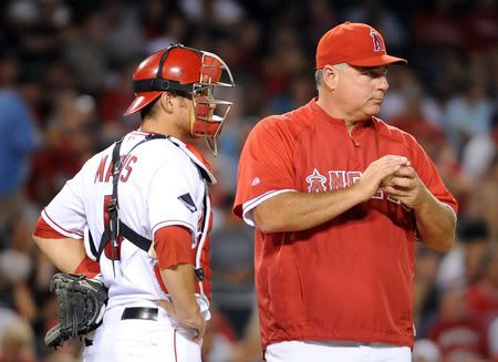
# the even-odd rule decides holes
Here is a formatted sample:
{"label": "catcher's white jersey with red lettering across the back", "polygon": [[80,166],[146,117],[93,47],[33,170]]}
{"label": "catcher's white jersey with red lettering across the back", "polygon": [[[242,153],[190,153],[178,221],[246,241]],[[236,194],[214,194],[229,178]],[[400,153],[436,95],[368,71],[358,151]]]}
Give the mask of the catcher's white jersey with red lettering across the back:
{"label": "catcher's white jersey with red lettering across the back", "polygon": [[[205,161],[176,138],[151,139],[132,149],[147,135],[134,131],[123,139],[120,153],[124,158],[117,188],[118,217],[149,240],[153,240],[156,230],[165,226],[188,228],[193,235],[191,247],[197,248],[196,261],[203,263],[208,260],[206,225],[210,224],[206,183],[216,183],[216,179]],[[107,225],[107,201],[113,193],[113,147],[89,159],[42,211],[45,223],[60,234],[84,238],[86,254],[94,260],[89,232],[94,242],[93,250],[98,250],[101,235]],[[103,280],[108,287],[107,310],[116,306],[154,306],[152,301],[167,298],[158,281],[153,248],[144,251],[121,237],[114,270],[108,248],[111,242],[100,258]],[[209,268],[206,265],[201,267]],[[209,289],[208,278],[198,283],[197,290],[201,296],[209,296]]]}

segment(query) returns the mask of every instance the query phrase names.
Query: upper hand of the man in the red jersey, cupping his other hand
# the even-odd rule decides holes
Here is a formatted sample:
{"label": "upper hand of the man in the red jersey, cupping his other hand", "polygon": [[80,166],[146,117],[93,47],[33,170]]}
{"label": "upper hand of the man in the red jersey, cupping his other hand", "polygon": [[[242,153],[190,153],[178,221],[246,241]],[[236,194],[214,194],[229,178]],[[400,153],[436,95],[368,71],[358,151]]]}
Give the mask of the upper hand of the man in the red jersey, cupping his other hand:
{"label": "upper hand of the man in the red jersey, cupping his other hand", "polygon": [[401,168],[409,167],[409,161],[403,156],[386,155],[374,162],[364,170],[362,177],[354,184],[361,193],[362,200],[369,200],[391,176]]}

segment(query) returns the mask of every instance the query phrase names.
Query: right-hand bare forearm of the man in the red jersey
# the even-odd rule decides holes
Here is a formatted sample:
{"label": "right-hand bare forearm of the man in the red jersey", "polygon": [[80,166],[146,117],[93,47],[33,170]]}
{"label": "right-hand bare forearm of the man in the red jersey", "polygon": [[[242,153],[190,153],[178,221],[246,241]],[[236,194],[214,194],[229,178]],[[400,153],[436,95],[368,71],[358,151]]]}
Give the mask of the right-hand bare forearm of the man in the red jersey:
{"label": "right-hand bare forearm of the man in the red jersey", "polygon": [[438,251],[448,251],[455,242],[456,216],[427,192],[426,200],[415,209],[421,241]]}

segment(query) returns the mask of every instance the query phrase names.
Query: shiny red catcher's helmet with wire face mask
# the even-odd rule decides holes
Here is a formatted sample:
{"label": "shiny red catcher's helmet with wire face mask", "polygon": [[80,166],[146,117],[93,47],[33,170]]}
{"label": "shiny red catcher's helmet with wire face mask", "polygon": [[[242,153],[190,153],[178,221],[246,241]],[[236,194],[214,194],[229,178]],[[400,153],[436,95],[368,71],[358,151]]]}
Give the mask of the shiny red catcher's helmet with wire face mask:
{"label": "shiny red catcher's helmet with wire face mask", "polygon": [[195,112],[190,134],[204,136],[216,155],[217,138],[232,103],[215,99],[215,89],[234,85],[230,69],[218,55],[183,44],[170,45],[149,55],[135,70],[135,100],[125,115],[139,111],[163,92],[187,96]]}

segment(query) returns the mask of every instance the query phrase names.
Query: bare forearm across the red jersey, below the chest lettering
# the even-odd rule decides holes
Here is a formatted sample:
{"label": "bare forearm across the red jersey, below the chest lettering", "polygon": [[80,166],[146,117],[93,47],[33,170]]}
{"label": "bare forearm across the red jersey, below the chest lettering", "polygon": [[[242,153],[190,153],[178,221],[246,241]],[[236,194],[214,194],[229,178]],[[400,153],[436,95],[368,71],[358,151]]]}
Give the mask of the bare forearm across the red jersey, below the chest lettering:
{"label": "bare forearm across the red jersey, below the chest lettering", "polygon": [[263,232],[300,231],[326,223],[364,199],[356,185],[328,193],[284,193],[258,205],[252,215]]}

